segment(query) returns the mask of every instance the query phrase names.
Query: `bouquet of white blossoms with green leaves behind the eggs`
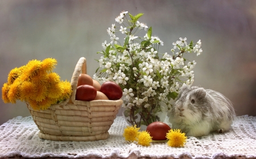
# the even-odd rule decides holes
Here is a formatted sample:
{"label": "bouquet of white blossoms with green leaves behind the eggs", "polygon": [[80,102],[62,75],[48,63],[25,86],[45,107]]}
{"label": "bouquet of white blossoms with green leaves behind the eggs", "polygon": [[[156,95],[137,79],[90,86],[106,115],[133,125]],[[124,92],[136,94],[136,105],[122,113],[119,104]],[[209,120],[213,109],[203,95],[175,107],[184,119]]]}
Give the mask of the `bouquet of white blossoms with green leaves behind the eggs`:
{"label": "bouquet of white blossoms with green leaves behind the eggs", "polygon": [[[187,38],[179,38],[172,43],[171,55],[159,53],[163,41],[152,36],[151,27],[138,21],[142,15],[133,16],[122,11],[115,18],[120,25],[112,24],[107,29],[111,41],[102,43],[105,50],[98,52],[103,56],[98,60],[98,74],[94,75],[94,79],[101,83],[114,81],[119,84],[125,98],[123,114],[127,122],[137,127],[160,121],[159,113],[170,109],[170,101],[177,97],[179,88],[183,84],[192,85],[192,68],[196,62],[183,58],[183,55],[189,52],[200,55],[202,52],[200,40],[188,44]],[[139,37],[143,31],[146,35]],[[118,41],[117,33],[123,36],[123,42]]]}

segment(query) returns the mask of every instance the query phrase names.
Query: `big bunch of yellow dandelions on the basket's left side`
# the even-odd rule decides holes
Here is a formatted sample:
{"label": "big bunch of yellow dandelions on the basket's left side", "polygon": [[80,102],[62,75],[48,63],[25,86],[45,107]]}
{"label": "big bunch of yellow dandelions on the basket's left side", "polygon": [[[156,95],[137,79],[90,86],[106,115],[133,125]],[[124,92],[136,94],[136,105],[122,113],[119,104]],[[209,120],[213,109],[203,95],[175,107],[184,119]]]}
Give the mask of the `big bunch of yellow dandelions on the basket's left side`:
{"label": "big bunch of yellow dandelions on the basket's left side", "polygon": [[60,76],[52,72],[56,63],[52,58],[35,59],[11,70],[7,83],[2,87],[3,102],[15,104],[20,100],[35,110],[44,110],[69,98],[71,84],[67,80],[60,81]]}

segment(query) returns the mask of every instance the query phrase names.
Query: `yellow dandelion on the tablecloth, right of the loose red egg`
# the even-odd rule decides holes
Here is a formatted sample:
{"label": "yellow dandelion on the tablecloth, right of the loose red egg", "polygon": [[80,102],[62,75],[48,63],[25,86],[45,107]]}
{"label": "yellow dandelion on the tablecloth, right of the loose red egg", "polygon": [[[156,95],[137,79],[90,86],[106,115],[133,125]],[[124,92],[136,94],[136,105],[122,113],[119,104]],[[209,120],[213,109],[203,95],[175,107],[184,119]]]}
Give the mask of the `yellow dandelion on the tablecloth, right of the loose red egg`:
{"label": "yellow dandelion on the tablecloth, right of the loose red egg", "polygon": [[166,137],[168,139],[167,144],[170,147],[184,147],[187,139],[185,133],[181,133],[180,129],[169,130]]}

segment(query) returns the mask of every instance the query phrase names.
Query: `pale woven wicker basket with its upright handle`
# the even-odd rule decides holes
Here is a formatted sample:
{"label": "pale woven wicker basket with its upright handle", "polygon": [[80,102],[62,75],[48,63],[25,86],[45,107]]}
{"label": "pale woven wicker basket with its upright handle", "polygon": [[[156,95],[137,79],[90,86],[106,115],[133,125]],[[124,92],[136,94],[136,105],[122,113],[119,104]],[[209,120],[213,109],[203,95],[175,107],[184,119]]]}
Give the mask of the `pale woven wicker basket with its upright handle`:
{"label": "pale woven wicker basket with its upright handle", "polygon": [[71,79],[72,95],[47,110],[33,110],[27,105],[40,132],[39,137],[56,141],[96,141],[108,139],[108,130],[120,109],[122,100],[77,101],[79,75],[86,74],[86,59],[77,62]]}

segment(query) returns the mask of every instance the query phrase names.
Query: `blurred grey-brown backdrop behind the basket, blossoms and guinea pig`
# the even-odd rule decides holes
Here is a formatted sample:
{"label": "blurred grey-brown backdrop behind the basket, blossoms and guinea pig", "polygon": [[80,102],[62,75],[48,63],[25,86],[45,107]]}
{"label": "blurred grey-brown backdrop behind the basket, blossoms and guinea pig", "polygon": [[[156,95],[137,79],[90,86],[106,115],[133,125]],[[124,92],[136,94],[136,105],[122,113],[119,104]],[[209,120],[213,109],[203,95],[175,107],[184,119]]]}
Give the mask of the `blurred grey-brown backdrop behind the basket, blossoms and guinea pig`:
{"label": "blurred grey-brown backdrop behind the basket, blossoms and guinea pig", "polygon": [[[179,37],[202,42],[203,53],[184,57],[197,62],[195,83],[228,97],[237,115],[256,116],[256,1],[0,1],[0,85],[11,69],[32,59],[55,58],[55,72],[71,80],[80,57],[93,76],[106,29],[121,11],[144,13],[139,22],[152,27],[171,53]],[[116,23],[117,25],[118,23]],[[119,37],[120,39],[122,37]],[[26,104],[0,101],[0,125],[29,116]],[[119,113],[120,115],[120,113]]]}

